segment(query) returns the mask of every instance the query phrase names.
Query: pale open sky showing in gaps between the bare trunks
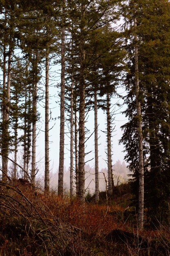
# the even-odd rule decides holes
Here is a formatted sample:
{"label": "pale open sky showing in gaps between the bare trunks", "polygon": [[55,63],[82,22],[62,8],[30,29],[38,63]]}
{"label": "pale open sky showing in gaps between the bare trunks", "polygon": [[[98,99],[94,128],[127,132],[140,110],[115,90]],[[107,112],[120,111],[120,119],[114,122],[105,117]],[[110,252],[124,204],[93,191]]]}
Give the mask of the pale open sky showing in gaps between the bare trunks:
{"label": "pale open sky showing in gaps between the bare trunks", "polygon": [[[54,70],[54,67],[52,67]],[[50,100],[49,100],[49,108],[51,110],[51,120],[49,122],[50,131],[49,131],[49,140],[50,140],[50,170],[51,172],[55,173],[58,170],[59,166],[59,146],[60,146],[60,98],[58,93],[60,91],[60,87],[57,88],[55,85],[60,83],[60,67],[55,72],[51,70],[51,86],[50,86]],[[55,77],[56,76],[56,77]],[[43,81],[41,82],[41,87],[44,88]],[[118,89],[119,94],[124,95],[125,89],[122,86]],[[119,101],[120,104],[123,103],[122,99],[113,98],[112,104],[115,105]],[[44,172],[44,108],[43,108],[43,100],[38,104],[38,111],[40,112],[40,122],[37,126],[37,166],[39,172]],[[115,130],[113,132],[112,138],[112,146],[113,146],[113,164],[120,160],[121,162],[124,161],[124,155],[122,151],[124,150],[123,145],[119,145],[119,139],[121,139],[122,131],[121,126],[126,123],[127,118],[122,114],[122,111],[125,110],[126,106],[114,107],[115,108],[115,121],[114,125]],[[65,113],[66,117],[66,113]],[[106,112],[104,113],[103,110],[98,110],[98,134],[99,134],[99,169],[105,168],[106,164],[106,134],[102,131],[106,130]],[[70,164],[70,139],[69,139],[69,132],[68,132],[69,123],[65,122],[65,159],[64,159],[64,166],[66,170],[69,168]],[[86,127],[89,130],[88,136],[90,136],[94,132],[94,112],[91,110],[87,116]],[[85,158],[85,162],[90,159],[94,158],[94,133],[90,139],[88,139],[86,143],[85,152],[92,151],[88,154]],[[94,159],[89,161],[88,164],[93,167],[94,166]]]}

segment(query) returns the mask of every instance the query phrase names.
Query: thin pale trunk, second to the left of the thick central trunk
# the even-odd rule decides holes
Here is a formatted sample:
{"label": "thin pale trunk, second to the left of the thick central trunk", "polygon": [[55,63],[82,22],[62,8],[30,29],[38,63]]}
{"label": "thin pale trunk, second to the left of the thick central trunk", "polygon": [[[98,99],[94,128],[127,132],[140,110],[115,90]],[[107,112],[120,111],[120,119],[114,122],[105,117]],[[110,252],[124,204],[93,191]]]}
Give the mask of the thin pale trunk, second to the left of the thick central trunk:
{"label": "thin pale trunk, second to the left of the thick central trunk", "polygon": [[[73,72],[73,71],[72,71]],[[74,78],[73,73],[71,76],[71,117],[70,117],[70,197],[73,197],[73,126],[74,126],[74,115],[73,115],[73,85],[74,85]]]}

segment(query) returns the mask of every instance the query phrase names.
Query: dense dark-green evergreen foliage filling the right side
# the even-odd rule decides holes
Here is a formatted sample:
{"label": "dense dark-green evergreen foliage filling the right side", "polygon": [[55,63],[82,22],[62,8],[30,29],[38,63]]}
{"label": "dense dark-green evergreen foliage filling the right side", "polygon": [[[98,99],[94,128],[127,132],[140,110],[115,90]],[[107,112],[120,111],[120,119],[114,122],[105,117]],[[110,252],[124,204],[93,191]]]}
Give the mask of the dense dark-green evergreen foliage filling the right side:
{"label": "dense dark-green evergreen foliage filling the right side", "polygon": [[[143,123],[144,191],[145,207],[153,225],[168,222],[167,207],[170,198],[170,3],[161,1],[130,1],[128,6],[130,43],[127,46],[130,61],[126,77],[129,121],[122,128],[121,142],[125,145],[126,159],[133,172],[132,190],[138,198],[138,140],[135,110],[134,41],[131,22],[132,8],[136,7],[137,36],[139,45],[139,85]],[[131,8],[131,9],[130,9]],[[131,18],[131,20],[130,20]],[[168,203],[167,203],[168,201]],[[163,212],[165,214],[163,214]],[[157,223],[157,224],[156,224]]]}

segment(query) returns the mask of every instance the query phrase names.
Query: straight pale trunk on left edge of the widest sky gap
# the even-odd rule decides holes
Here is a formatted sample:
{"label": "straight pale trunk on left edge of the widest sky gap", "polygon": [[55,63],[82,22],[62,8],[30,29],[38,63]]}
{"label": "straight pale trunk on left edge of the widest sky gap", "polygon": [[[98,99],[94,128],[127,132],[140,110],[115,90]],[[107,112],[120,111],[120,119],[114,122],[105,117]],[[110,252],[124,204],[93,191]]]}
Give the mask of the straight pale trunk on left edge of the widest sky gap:
{"label": "straight pale trunk on left edge of the widest sky gap", "polygon": [[44,191],[49,192],[49,49],[46,49]]}

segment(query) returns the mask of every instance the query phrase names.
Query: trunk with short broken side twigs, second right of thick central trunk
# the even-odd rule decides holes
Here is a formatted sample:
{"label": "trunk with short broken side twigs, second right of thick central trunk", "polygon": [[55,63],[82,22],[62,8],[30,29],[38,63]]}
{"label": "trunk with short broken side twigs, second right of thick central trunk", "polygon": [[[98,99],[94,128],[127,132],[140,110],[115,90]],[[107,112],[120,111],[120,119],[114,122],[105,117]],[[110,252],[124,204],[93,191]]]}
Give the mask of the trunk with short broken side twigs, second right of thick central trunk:
{"label": "trunk with short broken side twigs, second right of thick central trunk", "polygon": [[112,195],[112,153],[111,153],[111,122],[110,122],[110,96],[107,92],[107,157],[108,157],[108,195]]}

